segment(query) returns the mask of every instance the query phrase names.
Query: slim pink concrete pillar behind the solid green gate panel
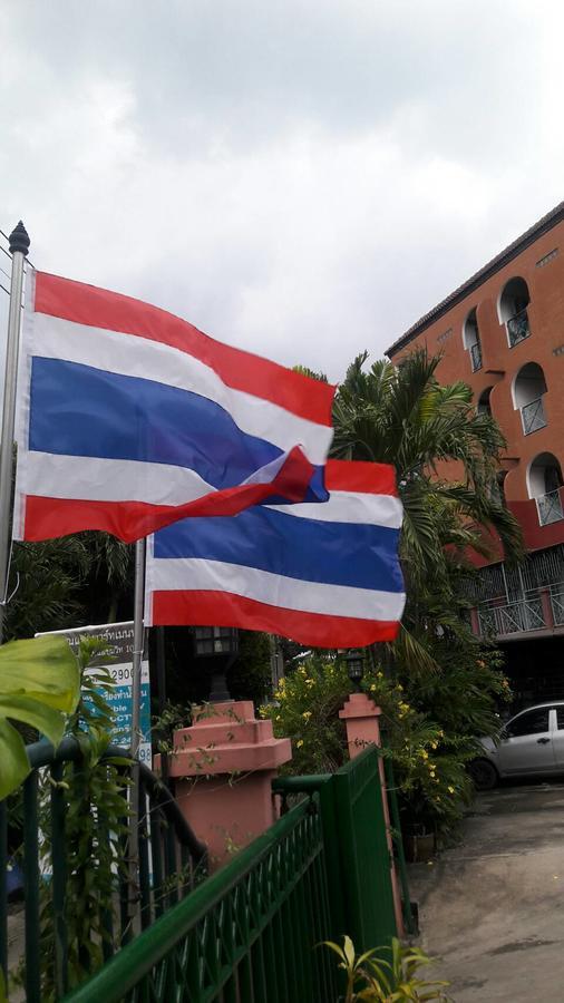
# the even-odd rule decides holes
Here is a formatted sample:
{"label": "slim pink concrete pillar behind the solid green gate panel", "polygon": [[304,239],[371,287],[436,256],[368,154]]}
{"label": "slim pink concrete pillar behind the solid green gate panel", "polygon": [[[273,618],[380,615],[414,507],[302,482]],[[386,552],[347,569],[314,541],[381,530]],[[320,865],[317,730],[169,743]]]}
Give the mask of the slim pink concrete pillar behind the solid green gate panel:
{"label": "slim pink concrete pillar behind the solid green gate panel", "polygon": [[[349,747],[349,756],[354,759],[367,746],[381,746],[380,722],[381,708],[377,707],[373,700],[370,700],[366,693],[351,693],[343,709],[339,711],[339,717],[344,720],[347,727],[347,743]],[[391,888],[393,893],[393,911],[396,913],[396,925],[398,927],[398,936],[405,936],[403,916],[401,912],[401,893],[399,889],[399,879],[393,863],[393,840],[391,838],[390,809],[388,805],[388,791],[386,789],[386,773],[383,762],[380,757],[380,785],[382,789],[383,818],[386,821],[386,836],[388,848],[390,850],[391,863]]]}

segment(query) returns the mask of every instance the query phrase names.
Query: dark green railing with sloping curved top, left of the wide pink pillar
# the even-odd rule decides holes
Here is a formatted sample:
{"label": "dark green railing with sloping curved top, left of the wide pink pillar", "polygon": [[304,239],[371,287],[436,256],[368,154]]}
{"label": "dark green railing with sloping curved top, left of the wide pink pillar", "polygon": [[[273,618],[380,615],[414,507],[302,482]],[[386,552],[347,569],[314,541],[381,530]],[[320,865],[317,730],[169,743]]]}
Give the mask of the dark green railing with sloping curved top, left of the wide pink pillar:
{"label": "dark green railing with sloping curved top, left of the wide pink pillar", "polygon": [[[23,782],[22,818],[8,825],[8,804],[0,802],[0,966],[8,971],[9,889],[7,877],[14,866],[21,869],[23,894],[22,965],[28,1003],[42,999],[41,975],[41,913],[47,907],[52,916],[52,981],[57,999],[61,999],[72,984],[69,974],[69,944],[66,924],[67,870],[69,846],[67,843],[67,804],[64,769],[74,763],[79,770],[82,751],[75,738],[66,738],[57,750],[47,742],[27,747],[32,771]],[[108,765],[117,759],[127,760],[128,752],[109,746],[100,760]],[[127,767],[123,767],[124,772]],[[132,896],[139,903],[142,928],[148,927],[163,912],[177,903],[207,873],[206,847],[195,837],[182,815],[172,792],[145,763],[139,763],[139,860],[132,868],[127,846],[119,844],[121,859],[115,857],[113,869],[115,908],[108,909],[107,899],[99,903],[98,915],[105,931],[104,956],[119,952],[132,936]],[[91,806],[96,814],[96,806]],[[116,822],[126,824],[126,819]],[[109,845],[110,825],[99,819],[97,839]],[[51,851],[46,873],[42,855],[41,826],[50,836]],[[45,834],[43,834],[45,835]],[[116,847],[115,838],[111,846]],[[127,866],[124,866],[126,864]],[[94,887],[96,887],[96,859],[91,860]],[[129,870],[129,878],[126,876]],[[46,905],[45,898],[48,898]]]}

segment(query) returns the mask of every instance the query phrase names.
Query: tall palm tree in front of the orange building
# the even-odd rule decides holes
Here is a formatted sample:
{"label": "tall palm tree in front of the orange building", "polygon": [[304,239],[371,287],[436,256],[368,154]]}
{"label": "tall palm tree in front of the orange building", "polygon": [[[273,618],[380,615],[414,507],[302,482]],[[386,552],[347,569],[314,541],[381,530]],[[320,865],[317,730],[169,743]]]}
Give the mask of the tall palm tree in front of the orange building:
{"label": "tall palm tree in front of the orange building", "polygon": [[430,623],[456,633],[466,630],[458,580],[460,568],[468,566],[468,548],[492,553],[498,539],[509,559],[523,554],[518,523],[497,490],[505,440],[489,415],[476,412],[466,383],[439,384],[440,356],[417,350],[398,368],[381,360],[364,370],[367,358],[367,352],[357,357],[339,388],[332,452],[396,467],[409,597],[408,633],[403,631],[398,646],[407,645],[403,654],[421,668],[430,664],[428,646],[416,639],[429,634]]}

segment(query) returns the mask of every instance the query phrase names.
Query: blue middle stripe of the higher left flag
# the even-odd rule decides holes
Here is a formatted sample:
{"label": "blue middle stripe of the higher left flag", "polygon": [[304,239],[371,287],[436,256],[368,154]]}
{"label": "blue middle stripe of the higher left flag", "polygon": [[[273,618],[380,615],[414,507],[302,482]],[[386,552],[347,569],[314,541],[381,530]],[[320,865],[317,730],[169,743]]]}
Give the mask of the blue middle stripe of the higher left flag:
{"label": "blue middle stripe of the higher left flag", "polygon": [[197,393],[38,357],[29,448],[187,467],[218,489],[241,484],[282,452],[241,431],[224,408]]}

